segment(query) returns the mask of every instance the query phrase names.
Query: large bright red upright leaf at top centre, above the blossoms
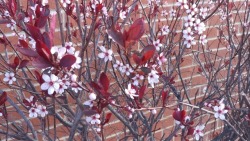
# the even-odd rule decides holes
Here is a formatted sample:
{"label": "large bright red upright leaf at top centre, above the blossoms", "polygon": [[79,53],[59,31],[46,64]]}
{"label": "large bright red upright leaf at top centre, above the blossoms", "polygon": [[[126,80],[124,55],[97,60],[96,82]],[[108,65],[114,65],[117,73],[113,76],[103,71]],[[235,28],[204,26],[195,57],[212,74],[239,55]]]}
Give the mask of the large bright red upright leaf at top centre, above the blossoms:
{"label": "large bright red upright leaf at top centre, above the blossoms", "polygon": [[143,18],[134,21],[128,30],[127,40],[138,40],[145,32]]}

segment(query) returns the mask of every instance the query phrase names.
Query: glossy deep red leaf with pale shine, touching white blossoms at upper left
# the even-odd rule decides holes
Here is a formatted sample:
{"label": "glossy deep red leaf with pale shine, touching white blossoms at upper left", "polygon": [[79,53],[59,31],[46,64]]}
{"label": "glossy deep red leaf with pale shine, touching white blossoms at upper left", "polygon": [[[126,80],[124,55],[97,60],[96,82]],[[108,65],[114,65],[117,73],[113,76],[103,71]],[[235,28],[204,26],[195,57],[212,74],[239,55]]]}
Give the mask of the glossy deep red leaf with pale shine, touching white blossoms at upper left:
{"label": "glossy deep red leaf with pale shine, touching white blossoms at upper left", "polygon": [[44,59],[50,61],[51,60],[51,53],[50,53],[50,50],[49,48],[47,47],[46,44],[44,44],[42,41],[40,40],[37,40],[36,41],[36,51],[37,53],[43,57]]}

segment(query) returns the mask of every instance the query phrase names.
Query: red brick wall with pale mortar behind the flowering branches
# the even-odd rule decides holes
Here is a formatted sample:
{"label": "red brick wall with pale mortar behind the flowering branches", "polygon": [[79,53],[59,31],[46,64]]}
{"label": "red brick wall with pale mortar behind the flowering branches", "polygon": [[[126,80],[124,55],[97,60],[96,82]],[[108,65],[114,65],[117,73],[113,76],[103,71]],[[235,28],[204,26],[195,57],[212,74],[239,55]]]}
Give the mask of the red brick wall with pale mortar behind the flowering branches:
{"label": "red brick wall with pale mortar behind the flowering branches", "polygon": [[[23,7],[26,6],[26,0],[21,1],[21,5]],[[142,1],[142,5],[146,6],[147,1]],[[171,23],[172,18],[169,17],[169,15],[167,17],[163,17],[161,16],[161,12],[163,10],[166,11],[170,11],[172,8],[177,9],[177,7],[175,6],[176,1],[166,1],[167,3],[165,3],[165,1],[163,1],[162,5],[160,5],[158,7],[159,12],[156,12],[157,18],[155,18],[156,22],[155,25],[152,25],[151,28],[153,28],[154,30],[158,30],[159,27],[162,27],[162,25],[167,24],[170,27],[173,26],[173,24]],[[203,7],[209,7],[211,6],[211,4],[208,4],[208,1],[202,1],[204,4],[199,4],[199,6],[203,6]],[[243,1],[235,1],[235,5],[232,8],[232,19],[235,23],[235,40],[236,37],[238,37],[239,39],[242,37],[242,23],[240,21],[240,17],[242,18],[244,15],[244,8],[245,6],[243,6]],[[126,5],[131,4],[131,2],[127,3]],[[51,11],[54,11],[56,9],[55,6],[55,2],[54,1],[50,1],[49,2],[49,6]],[[137,14],[133,14],[132,17],[134,19],[142,17],[142,8],[141,5],[138,4],[138,12]],[[148,13],[149,8],[145,8],[145,12]],[[237,11],[239,10],[239,11]],[[61,16],[62,16],[62,22],[63,22],[63,27],[64,25],[66,25],[66,20],[67,17],[65,15],[65,12],[62,10],[61,11]],[[111,13],[111,12],[109,12]],[[184,10],[180,10],[180,14],[184,17],[185,16],[185,11]],[[58,13],[57,13],[58,14]],[[152,17],[152,16],[151,16]],[[171,76],[176,76],[174,81],[174,86],[176,87],[176,89],[181,93],[181,95],[183,96],[184,101],[183,102],[187,102],[187,98],[186,98],[186,94],[189,96],[191,103],[190,104],[197,104],[199,101],[204,100],[205,98],[205,94],[203,92],[203,89],[205,87],[207,87],[208,85],[208,81],[207,79],[204,77],[204,75],[202,75],[201,73],[198,72],[198,68],[200,68],[200,65],[205,65],[208,64],[210,61],[210,63],[213,63],[215,68],[220,68],[224,65],[224,62],[227,61],[230,58],[230,51],[227,48],[227,44],[223,44],[221,43],[221,41],[223,39],[219,39],[219,34],[220,34],[220,30],[227,30],[227,26],[226,26],[226,20],[221,20],[221,15],[216,12],[214,15],[212,15],[208,20],[205,21],[206,24],[206,31],[204,33],[204,35],[207,36],[207,40],[208,43],[204,46],[201,45],[195,45],[192,46],[191,49],[185,49],[184,54],[183,54],[183,62],[181,64],[179,64],[178,67],[176,67],[173,70],[173,75]],[[77,30],[77,23],[71,18],[69,17],[73,28],[75,28]],[[179,18],[177,21],[177,26],[176,29],[174,29],[173,31],[176,32],[176,36],[174,37],[174,43],[175,45],[173,45],[173,50],[176,50],[176,52],[180,51],[179,48],[179,42],[181,42],[183,40],[183,38],[180,38],[181,34],[182,34],[182,29],[183,29],[183,23],[184,20],[183,18]],[[145,20],[146,22],[146,20]],[[89,24],[91,23],[91,20],[88,19],[86,21],[87,26],[89,26]],[[6,25],[1,24],[0,25],[0,29],[1,31],[4,33],[5,36],[8,37],[9,41],[12,44],[17,44],[17,40],[18,37],[13,36],[13,32],[6,27]],[[100,29],[100,31],[102,31],[104,29]],[[64,32],[65,32],[65,36],[66,37],[66,27],[64,27]],[[96,31],[96,35],[98,35],[98,31]],[[148,43],[148,34],[149,34],[149,27],[148,25],[146,25],[146,33],[142,38],[141,41],[144,44]],[[227,37],[227,33],[224,32],[224,36]],[[78,37],[79,37],[79,32],[77,33]],[[171,34],[174,34],[173,32]],[[57,19],[57,26],[55,29],[55,37],[54,37],[54,44],[55,46],[61,46],[61,36],[60,36],[60,28],[58,25],[58,19]],[[101,37],[103,38],[103,37]],[[79,39],[79,38],[78,38]],[[72,41],[75,43],[75,45],[79,42],[77,38],[72,38]],[[68,39],[67,39],[68,40]],[[167,42],[167,41],[166,41]],[[99,44],[102,44],[102,39],[100,39]],[[169,43],[170,44],[170,43]],[[235,44],[237,44],[237,41],[235,41]],[[113,51],[115,51],[115,43],[112,44],[112,48]],[[138,49],[141,49],[141,45],[138,43]],[[90,53],[92,51],[91,47],[94,47],[93,42],[90,43],[89,48],[87,49],[88,52]],[[80,49],[80,44],[79,47],[76,47],[78,49]],[[7,50],[8,54],[5,54],[5,51]],[[3,56],[7,55],[9,56],[10,62],[14,59],[13,55],[13,49],[8,47],[4,47],[4,45],[1,45],[0,48],[1,54]],[[173,52],[172,52],[173,53]],[[199,61],[197,61],[197,58],[199,59]],[[210,60],[207,60],[207,59]],[[176,60],[175,60],[175,56],[172,55],[171,57],[168,58],[168,63],[167,66],[169,67],[169,69],[174,68],[176,65]],[[84,60],[85,61],[85,60]],[[3,63],[3,60],[1,59],[1,64]],[[200,64],[199,64],[200,63]],[[232,65],[235,66],[238,63],[237,60],[237,56],[234,58],[234,60],[232,61]],[[93,64],[92,64],[93,65]],[[109,64],[110,65],[110,64]],[[94,65],[93,65],[94,66]],[[110,67],[110,66],[109,66]],[[104,67],[103,67],[104,68]],[[31,69],[32,70],[32,69]],[[6,71],[6,68],[2,68],[1,69],[2,72]],[[217,79],[217,84],[219,87],[221,87],[221,89],[223,89],[224,86],[224,80],[227,77],[227,67],[221,69],[219,72],[213,72],[214,76]],[[30,77],[32,77],[31,74]],[[95,76],[95,74],[93,75]],[[111,75],[110,75],[111,76]],[[1,80],[3,79],[3,75],[1,75]],[[20,73],[20,77],[24,77],[23,74]],[[33,77],[32,77],[33,78]],[[112,78],[110,78],[112,79]],[[211,80],[213,80],[211,78]],[[25,85],[25,81],[19,81],[21,84]],[[114,81],[112,84],[115,84],[116,82]],[[183,88],[183,84],[185,83],[185,90]],[[158,84],[157,85],[159,88],[162,88],[162,84]],[[7,85],[4,85],[4,83],[1,83],[1,89],[5,90],[8,93],[8,97],[10,99],[12,99],[15,103],[19,103],[18,101],[21,100],[23,97],[21,95],[25,95],[25,96],[29,96],[30,93],[27,91],[16,91],[14,89],[14,87],[9,88]],[[36,85],[36,89],[38,91],[40,91],[40,85],[37,84]],[[113,89],[111,90],[113,93],[117,92],[116,87],[113,87]],[[159,90],[155,90],[156,93],[160,93],[160,89]],[[184,94],[184,91],[186,94]],[[211,92],[212,90],[208,90],[208,93]],[[196,93],[197,92],[197,93]],[[236,90],[235,90],[236,92]],[[22,93],[22,94],[20,94]],[[212,93],[212,92],[211,92]],[[150,97],[150,92],[148,92],[147,97]],[[217,98],[219,96],[215,96],[214,98]],[[237,95],[235,96],[237,98]],[[76,102],[73,98],[68,97],[69,101],[72,102],[71,103],[71,107],[74,107],[73,109],[75,109],[76,107]],[[85,98],[86,99],[86,98]],[[164,135],[165,137],[167,137],[169,134],[171,134],[173,132],[173,129],[175,128],[175,122],[174,119],[172,117],[172,113],[173,113],[173,109],[176,108],[176,97],[174,97],[173,93],[171,92],[170,95],[170,99],[168,100],[168,106],[171,107],[170,109],[166,109],[163,116],[160,118],[159,122],[157,123],[156,127],[155,127],[155,131],[153,132],[154,134],[154,140],[161,140],[162,136]],[[51,99],[48,99],[49,102],[52,102]],[[121,100],[122,101],[122,100]],[[23,121],[23,119],[21,119],[21,116],[16,112],[16,109],[13,108],[13,106],[11,106],[8,102],[6,103],[7,106],[7,111],[8,111],[8,121],[10,121],[8,124],[11,124],[12,122],[16,123],[17,125],[20,125],[20,127],[24,130],[28,130],[27,129],[27,125],[26,123]],[[24,111],[25,114],[28,114],[28,110],[25,109],[23,106],[21,106],[20,104],[18,104],[18,106]],[[60,105],[58,105],[60,106]],[[183,109],[185,109],[187,111],[187,113],[191,112],[193,109],[190,108],[189,106],[183,106]],[[63,113],[62,112],[62,108],[58,107],[58,113]],[[109,111],[109,110],[107,110]],[[149,111],[145,111],[145,115],[147,117],[150,116],[150,112]],[[67,115],[63,115],[63,118],[67,118]],[[4,122],[4,119],[1,119]],[[84,119],[83,119],[84,120]],[[203,137],[203,140],[211,140],[213,139],[216,134],[219,134],[222,130],[223,130],[223,122],[221,122],[220,120],[215,120],[213,118],[213,115],[211,116],[206,116],[206,115],[202,115],[201,118],[199,118],[200,121],[202,122],[207,122],[206,123],[206,128],[205,128],[205,135]],[[63,124],[60,123],[60,121],[58,121],[57,119],[54,119],[53,115],[48,115],[44,120],[41,119],[37,119],[37,118],[32,118],[30,119],[30,121],[32,122],[33,126],[35,127],[38,136],[39,136],[39,140],[48,140],[48,139],[44,139],[43,138],[43,133],[42,130],[46,130],[47,134],[49,134],[49,136],[54,139],[54,136],[56,136],[56,140],[67,140],[69,133],[70,133],[70,128],[65,127]],[[45,125],[45,129],[41,128],[41,122],[46,123]],[[198,121],[195,123],[197,124]],[[48,124],[50,126],[48,126]],[[54,124],[56,124],[56,128],[54,128]],[[4,126],[6,125],[6,123],[3,123],[2,129],[6,130],[6,127]],[[56,130],[56,135],[54,134],[54,130]],[[30,133],[30,131],[27,131]],[[107,123],[104,126],[104,137],[105,140],[107,141],[113,141],[113,140],[125,140],[125,136],[128,134],[128,129],[126,129],[124,127],[124,125],[119,122],[119,120],[112,115],[111,120],[109,123]],[[14,133],[17,134],[17,133]],[[178,141],[181,140],[181,136],[180,136],[181,132],[177,132],[176,137],[173,137],[174,141]],[[91,133],[91,131],[89,131],[89,133],[87,134],[89,136],[90,140],[93,140],[94,134]],[[0,135],[1,139],[5,139],[6,136],[5,135]],[[190,139],[193,139],[192,136],[189,136]],[[81,135],[79,133],[75,134],[75,140],[81,140]],[[132,137],[128,137],[128,140],[132,140]],[[8,137],[8,140],[16,140],[13,138]]]}

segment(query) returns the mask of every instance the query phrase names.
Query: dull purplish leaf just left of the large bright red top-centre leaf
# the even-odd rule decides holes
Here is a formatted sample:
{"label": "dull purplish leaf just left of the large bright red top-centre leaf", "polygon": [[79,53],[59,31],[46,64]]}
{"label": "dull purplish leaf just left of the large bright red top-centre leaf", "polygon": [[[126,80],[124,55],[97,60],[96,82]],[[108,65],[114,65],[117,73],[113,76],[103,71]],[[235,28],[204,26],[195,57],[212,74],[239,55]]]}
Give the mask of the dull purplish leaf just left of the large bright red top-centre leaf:
{"label": "dull purplish leaf just left of the large bright red top-centre leaf", "polygon": [[108,30],[108,35],[112,37],[112,39],[119,44],[120,46],[125,47],[125,40],[123,38],[123,34],[119,31],[117,31],[114,27],[111,27]]}

